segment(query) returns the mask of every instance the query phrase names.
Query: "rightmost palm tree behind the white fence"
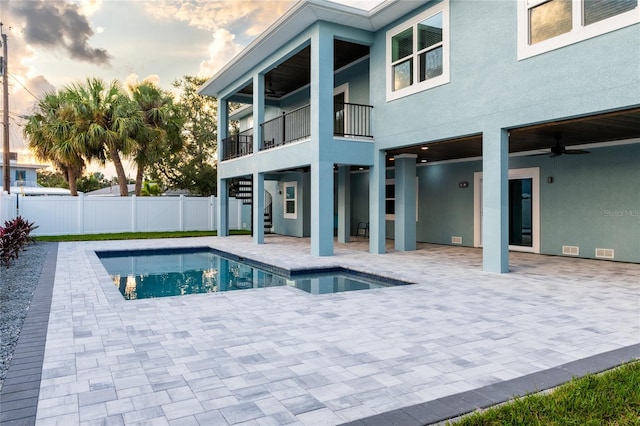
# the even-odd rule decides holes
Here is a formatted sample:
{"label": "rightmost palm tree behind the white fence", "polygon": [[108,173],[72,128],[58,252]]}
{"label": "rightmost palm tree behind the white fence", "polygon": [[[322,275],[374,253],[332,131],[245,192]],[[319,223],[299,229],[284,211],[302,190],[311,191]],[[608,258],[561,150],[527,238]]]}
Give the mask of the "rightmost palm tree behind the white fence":
{"label": "rightmost palm tree behind the white fence", "polygon": [[142,112],[144,126],[135,136],[133,159],[137,166],[135,194],[141,195],[145,168],[168,153],[182,148],[184,120],[173,103],[173,96],[151,82],[130,86],[133,101]]}

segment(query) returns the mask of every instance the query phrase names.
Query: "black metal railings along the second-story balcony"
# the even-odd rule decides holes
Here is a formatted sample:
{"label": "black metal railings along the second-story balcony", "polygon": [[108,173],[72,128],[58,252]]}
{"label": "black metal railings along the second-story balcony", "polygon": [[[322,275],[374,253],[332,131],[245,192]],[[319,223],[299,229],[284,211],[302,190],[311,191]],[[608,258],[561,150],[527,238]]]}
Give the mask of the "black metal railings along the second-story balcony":
{"label": "black metal railings along the second-story balcony", "polygon": [[[335,137],[372,139],[371,105],[336,102],[334,104],[333,135]],[[311,137],[311,106],[305,105],[260,124],[260,150],[271,149]],[[230,160],[253,154],[253,129],[231,135],[223,140],[224,158]]]}

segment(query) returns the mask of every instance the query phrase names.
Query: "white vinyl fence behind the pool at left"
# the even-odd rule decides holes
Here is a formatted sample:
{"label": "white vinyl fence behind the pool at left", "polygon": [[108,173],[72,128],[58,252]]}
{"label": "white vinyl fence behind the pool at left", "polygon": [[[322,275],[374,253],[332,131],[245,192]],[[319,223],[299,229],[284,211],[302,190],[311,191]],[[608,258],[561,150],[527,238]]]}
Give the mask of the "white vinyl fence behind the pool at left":
{"label": "white vinyl fence behind the pool at left", "polygon": [[[33,235],[215,230],[215,197],[0,195],[0,220],[22,216]],[[251,207],[229,199],[229,228],[249,229]]]}

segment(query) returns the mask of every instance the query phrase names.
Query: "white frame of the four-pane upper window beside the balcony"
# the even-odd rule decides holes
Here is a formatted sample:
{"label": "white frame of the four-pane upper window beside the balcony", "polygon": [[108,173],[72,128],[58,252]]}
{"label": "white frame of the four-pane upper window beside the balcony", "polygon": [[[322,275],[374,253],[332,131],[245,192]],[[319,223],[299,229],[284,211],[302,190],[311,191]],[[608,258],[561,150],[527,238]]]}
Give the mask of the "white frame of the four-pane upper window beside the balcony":
{"label": "white frame of the four-pane upper window beside the balcony", "polygon": [[[417,78],[419,75],[419,65],[417,60],[417,31],[413,31],[414,37],[414,52],[412,56],[413,60],[413,75],[414,82],[410,86],[407,86],[403,89],[399,89],[393,91],[393,73],[391,72],[391,60],[392,55],[392,38],[398,33],[408,29],[409,27],[415,28],[416,25],[425,19],[428,19],[432,16],[437,15],[438,13],[442,13],[442,74],[438,77],[429,78],[422,82],[418,82]],[[441,86],[443,84],[447,84],[450,81],[450,70],[449,70],[449,51],[451,47],[450,39],[449,39],[449,0],[444,0],[441,3],[425,10],[419,15],[414,16],[413,18],[403,22],[400,25],[396,25],[391,28],[386,33],[386,58],[385,58],[385,73],[386,73],[386,95],[387,102],[393,101],[395,99],[403,98],[405,96],[413,95],[414,93],[422,92],[427,89],[431,89],[433,87]]]}

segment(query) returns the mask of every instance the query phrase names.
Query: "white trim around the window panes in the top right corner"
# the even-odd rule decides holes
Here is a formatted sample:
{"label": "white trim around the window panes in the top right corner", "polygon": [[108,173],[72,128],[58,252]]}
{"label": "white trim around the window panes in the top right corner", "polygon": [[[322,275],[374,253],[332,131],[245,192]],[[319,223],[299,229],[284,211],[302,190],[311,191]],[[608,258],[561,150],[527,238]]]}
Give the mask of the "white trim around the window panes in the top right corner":
{"label": "white trim around the window panes in the top right corner", "polygon": [[582,40],[597,37],[620,28],[640,22],[640,5],[620,15],[612,16],[590,25],[584,25],[583,0],[572,0],[573,28],[571,31],[552,37],[536,44],[529,44],[529,9],[542,3],[542,0],[518,1],[518,60],[540,55]]}

